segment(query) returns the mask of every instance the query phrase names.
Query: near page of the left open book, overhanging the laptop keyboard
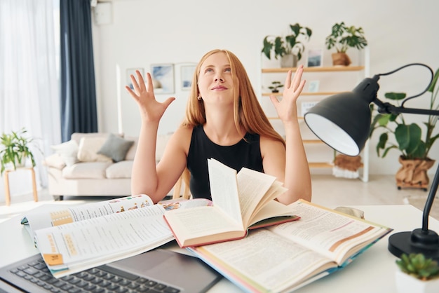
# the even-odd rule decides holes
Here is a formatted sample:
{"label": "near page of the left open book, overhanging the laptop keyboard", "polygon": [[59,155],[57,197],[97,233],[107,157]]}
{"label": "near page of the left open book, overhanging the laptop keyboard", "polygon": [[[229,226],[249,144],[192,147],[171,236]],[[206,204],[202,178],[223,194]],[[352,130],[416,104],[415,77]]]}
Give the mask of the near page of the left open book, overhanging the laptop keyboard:
{"label": "near page of the left open book, overhanging the laptop keyboard", "polygon": [[53,270],[72,268],[74,264],[86,269],[105,259],[122,259],[130,252],[144,252],[173,240],[163,214],[161,205],[108,214],[39,229],[35,240]]}

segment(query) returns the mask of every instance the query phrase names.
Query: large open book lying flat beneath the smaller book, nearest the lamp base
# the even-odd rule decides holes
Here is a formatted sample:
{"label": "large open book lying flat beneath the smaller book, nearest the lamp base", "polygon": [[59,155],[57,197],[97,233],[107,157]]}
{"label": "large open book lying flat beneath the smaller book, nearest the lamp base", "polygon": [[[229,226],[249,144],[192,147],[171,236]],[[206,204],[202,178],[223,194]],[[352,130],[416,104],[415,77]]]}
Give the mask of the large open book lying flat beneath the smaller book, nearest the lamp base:
{"label": "large open book lying flat beneath the smaller book, nearest the lamp base", "polygon": [[288,206],[299,221],[188,249],[247,292],[291,292],[344,268],[392,231],[306,200]]}

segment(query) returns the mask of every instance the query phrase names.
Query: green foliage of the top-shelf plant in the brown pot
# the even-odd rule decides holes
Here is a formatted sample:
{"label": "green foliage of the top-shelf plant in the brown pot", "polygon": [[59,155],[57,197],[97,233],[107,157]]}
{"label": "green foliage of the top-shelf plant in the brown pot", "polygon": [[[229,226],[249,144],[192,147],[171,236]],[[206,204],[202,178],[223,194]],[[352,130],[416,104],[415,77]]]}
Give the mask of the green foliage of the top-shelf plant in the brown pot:
{"label": "green foliage of the top-shelf plant in the brown pot", "polygon": [[332,26],[332,32],[326,37],[327,49],[335,47],[337,53],[346,53],[349,47],[363,49],[367,46],[363,28],[347,27],[344,22]]}

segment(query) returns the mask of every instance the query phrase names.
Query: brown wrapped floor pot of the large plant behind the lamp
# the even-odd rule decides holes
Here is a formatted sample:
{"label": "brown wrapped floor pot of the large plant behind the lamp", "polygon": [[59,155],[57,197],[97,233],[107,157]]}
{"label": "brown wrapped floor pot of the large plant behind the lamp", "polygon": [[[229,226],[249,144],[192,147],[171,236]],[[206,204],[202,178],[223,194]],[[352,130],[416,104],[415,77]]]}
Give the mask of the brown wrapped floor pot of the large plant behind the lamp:
{"label": "brown wrapped floor pot of the large plant behind the lamp", "polygon": [[435,161],[426,160],[405,160],[401,156],[399,162],[402,167],[396,172],[396,185],[401,187],[412,187],[426,190],[428,188],[427,170],[433,167]]}

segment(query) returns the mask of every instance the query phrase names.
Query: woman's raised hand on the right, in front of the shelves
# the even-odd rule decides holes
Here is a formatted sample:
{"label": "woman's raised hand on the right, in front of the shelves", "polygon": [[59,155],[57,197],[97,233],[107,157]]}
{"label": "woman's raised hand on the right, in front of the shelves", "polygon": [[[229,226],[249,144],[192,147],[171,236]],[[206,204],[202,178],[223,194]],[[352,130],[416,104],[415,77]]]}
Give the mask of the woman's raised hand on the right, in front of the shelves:
{"label": "woman's raised hand on the right, in front of the shelves", "polygon": [[305,80],[302,80],[303,71],[304,67],[301,65],[297,68],[292,80],[292,71],[288,71],[281,101],[279,101],[275,95],[270,95],[270,100],[283,123],[297,121],[297,98],[305,86]]}

